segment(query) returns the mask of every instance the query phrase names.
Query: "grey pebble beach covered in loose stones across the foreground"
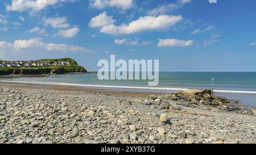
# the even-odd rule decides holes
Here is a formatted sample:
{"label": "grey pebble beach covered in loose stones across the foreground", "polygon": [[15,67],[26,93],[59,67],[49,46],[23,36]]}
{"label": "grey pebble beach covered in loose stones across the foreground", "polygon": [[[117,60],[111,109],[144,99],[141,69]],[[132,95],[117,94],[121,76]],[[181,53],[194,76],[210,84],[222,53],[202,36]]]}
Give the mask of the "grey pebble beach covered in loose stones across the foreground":
{"label": "grey pebble beach covered in loose stones across the foreground", "polygon": [[0,143],[256,143],[254,115],[150,103],[152,93],[17,83],[0,92]]}

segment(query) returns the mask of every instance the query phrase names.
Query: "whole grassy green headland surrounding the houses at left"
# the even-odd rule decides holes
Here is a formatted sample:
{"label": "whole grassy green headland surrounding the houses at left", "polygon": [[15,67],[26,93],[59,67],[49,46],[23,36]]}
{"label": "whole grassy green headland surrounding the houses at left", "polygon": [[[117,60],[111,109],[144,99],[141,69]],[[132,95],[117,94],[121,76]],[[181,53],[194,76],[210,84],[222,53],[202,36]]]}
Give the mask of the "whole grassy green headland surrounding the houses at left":
{"label": "whole grassy green headland surrounding the houses at left", "polygon": [[[69,65],[32,66],[27,68],[7,66],[0,68],[0,76],[87,73],[87,70],[83,66],[79,66],[72,58],[35,60],[35,62],[48,62],[49,64],[54,64],[60,61],[68,62]],[[11,61],[2,62],[5,62],[5,64],[11,64]]]}

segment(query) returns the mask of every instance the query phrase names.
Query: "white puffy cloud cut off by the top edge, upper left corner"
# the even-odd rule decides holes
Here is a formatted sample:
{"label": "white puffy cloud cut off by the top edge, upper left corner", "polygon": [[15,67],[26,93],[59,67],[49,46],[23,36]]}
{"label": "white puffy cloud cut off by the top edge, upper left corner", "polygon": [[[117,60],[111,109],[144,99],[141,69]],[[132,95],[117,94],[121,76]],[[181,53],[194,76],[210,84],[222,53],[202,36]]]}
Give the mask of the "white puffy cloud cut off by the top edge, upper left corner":
{"label": "white puffy cloud cut off by the top edge, upper left corner", "polygon": [[34,12],[46,9],[48,6],[56,5],[60,2],[76,2],[76,0],[11,0],[11,4],[6,6],[7,11],[26,11],[31,10],[31,15]]}

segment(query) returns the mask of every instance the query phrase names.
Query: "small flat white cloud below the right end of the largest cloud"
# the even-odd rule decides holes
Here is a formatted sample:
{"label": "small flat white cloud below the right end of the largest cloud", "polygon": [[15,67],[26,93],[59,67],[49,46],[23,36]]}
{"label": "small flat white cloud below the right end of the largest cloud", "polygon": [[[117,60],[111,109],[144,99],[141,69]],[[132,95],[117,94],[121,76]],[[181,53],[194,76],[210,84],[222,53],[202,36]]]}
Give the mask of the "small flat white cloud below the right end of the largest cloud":
{"label": "small flat white cloud below the right end of the largest cloud", "polygon": [[188,47],[193,45],[193,40],[159,39],[158,47]]}

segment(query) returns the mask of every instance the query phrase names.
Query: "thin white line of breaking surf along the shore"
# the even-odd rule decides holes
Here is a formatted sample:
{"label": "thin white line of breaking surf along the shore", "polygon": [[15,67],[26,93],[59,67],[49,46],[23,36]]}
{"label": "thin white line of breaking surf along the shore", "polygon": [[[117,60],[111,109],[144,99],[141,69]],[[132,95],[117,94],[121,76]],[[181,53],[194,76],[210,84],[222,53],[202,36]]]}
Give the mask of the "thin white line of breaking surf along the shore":
{"label": "thin white line of breaking surf along the shore", "polygon": [[[58,86],[77,86],[77,87],[96,87],[96,88],[109,88],[109,89],[141,89],[141,90],[188,90],[181,88],[167,88],[167,87],[133,87],[133,86],[105,86],[105,85],[85,85],[85,84],[74,84],[74,83],[57,83],[57,82],[28,82],[28,81],[5,81],[5,83],[20,83],[20,84],[34,84],[34,85],[58,85]],[[230,93],[230,94],[255,94],[256,91],[233,91],[233,90],[214,90],[215,93]]]}

